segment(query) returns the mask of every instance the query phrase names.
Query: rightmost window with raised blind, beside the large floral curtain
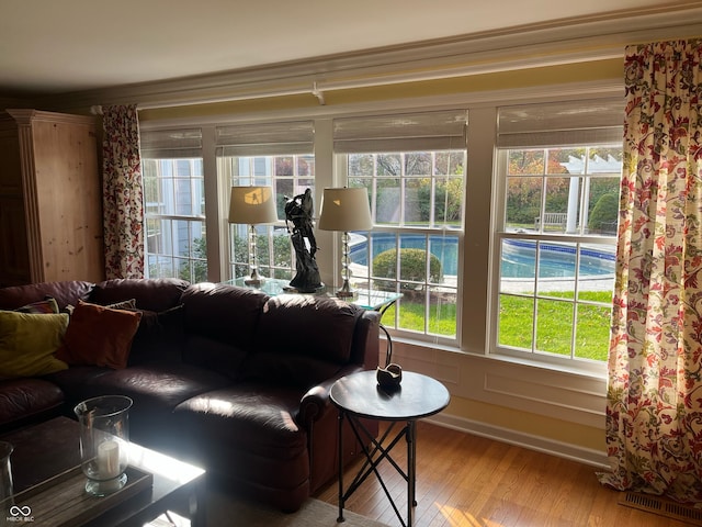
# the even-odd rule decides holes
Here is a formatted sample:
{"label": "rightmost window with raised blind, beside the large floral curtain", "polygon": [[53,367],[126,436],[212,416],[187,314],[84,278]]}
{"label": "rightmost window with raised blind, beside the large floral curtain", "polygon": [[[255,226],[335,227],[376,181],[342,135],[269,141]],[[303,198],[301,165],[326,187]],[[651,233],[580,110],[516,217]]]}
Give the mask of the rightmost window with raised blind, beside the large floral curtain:
{"label": "rightmost window with raised blind, beside the large floral curtain", "polygon": [[585,366],[609,349],[620,101],[502,108],[496,349]]}

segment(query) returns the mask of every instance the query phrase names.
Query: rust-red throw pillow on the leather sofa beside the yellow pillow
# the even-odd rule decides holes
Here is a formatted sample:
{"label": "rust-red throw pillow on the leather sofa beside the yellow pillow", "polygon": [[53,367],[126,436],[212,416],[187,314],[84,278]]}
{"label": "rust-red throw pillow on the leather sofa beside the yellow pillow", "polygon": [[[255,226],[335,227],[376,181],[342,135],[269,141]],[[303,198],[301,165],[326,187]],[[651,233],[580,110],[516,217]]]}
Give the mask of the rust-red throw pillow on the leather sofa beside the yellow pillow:
{"label": "rust-red throw pillow on the leather sofa beside the yellow pillow", "polygon": [[125,368],[140,319],[139,312],[79,300],[56,358],[72,366]]}

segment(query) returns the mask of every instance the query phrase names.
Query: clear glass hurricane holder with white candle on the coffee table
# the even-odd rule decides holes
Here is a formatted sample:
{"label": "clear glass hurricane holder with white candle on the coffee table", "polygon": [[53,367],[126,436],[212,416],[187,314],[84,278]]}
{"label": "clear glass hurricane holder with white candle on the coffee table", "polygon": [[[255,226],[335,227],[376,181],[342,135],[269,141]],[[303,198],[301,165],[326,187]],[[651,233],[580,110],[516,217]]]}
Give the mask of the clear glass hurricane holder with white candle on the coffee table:
{"label": "clear glass hurricane holder with white candle on the coffee table", "polygon": [[127,482],[132,404],[124,395],[103,395],[73,408],[80,423],[80,460],[88,494],[105,496]]}

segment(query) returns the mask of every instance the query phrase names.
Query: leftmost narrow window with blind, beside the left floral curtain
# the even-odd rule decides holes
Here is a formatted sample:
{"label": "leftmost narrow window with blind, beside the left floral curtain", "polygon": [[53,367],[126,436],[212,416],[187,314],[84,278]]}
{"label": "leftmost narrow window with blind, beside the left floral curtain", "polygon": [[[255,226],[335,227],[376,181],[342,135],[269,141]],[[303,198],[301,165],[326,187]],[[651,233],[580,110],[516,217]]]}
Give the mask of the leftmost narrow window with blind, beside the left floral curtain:
{"label": "leftmost narrow window with blind, beside the left floral curtain", "polygon": [[146,276],[207,279],[200,128],[141,133]]}

